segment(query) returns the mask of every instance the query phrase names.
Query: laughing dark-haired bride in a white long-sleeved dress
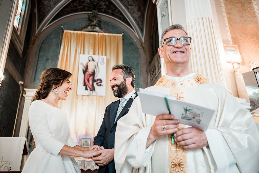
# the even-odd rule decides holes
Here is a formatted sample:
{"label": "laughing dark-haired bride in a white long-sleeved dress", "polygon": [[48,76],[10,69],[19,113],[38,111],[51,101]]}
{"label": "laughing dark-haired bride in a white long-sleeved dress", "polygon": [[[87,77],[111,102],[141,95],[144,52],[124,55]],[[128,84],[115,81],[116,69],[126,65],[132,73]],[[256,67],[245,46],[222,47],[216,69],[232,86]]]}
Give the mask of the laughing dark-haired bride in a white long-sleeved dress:
{"label": "laughing dark-haired bride in a white long-sleeved dress", "polygon": [[80,173],[71,156],[93,157],[99,146],[85,148],[70,136],[66,112],[58,107],[73,89],[72,74],[58,68],[46,69],[41,74],[39,88],[29,108],[29,125],[36,148],[28,157],[22,173]]}

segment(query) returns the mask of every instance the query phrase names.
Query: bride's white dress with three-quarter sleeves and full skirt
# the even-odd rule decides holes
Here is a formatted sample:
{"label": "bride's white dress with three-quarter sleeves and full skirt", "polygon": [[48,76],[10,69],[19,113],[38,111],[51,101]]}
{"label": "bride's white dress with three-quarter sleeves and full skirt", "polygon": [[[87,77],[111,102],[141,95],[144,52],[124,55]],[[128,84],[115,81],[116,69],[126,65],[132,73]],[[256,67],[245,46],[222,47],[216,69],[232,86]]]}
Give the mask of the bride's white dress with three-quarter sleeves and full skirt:
{"label": "bride's white dress with three-quarter sleeves and full skirt", "polygon": [[33,101],[29,109],[29,125],[36,148],[22,173],[81,173],[73,157],[58,154],[64,144],[77,145],[70,136],[64,111],[41,100]]}

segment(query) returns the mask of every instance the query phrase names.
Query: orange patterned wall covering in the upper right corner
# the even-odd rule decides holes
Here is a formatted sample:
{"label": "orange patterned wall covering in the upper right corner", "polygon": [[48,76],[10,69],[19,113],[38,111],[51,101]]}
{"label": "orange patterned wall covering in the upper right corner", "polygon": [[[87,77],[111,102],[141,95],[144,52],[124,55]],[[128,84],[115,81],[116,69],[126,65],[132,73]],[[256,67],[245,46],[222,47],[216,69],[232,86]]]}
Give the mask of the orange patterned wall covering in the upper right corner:
{"label": "orange patterned wall covering in the upper right corner", "polygon": [[[239,48],[239,73],[250,71],[250,62],[259,66],[259,25],[252,0],[224,0],[233,44]],[[257,4],[259,5],[259,4]]]}

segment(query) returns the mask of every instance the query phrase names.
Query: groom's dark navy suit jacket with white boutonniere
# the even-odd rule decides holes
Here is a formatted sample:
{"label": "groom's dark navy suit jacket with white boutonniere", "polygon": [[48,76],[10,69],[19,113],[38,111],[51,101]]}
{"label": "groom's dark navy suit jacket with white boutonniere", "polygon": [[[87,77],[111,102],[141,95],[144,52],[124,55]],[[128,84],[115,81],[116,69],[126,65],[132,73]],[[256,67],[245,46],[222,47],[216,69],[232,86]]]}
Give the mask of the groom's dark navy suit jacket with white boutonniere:
{"label": "groom's dark navy suit jacket with white boutonniere", "polygon": [[[137,95],[137,92],[134,94]],[[112,149],[114,148],[114,140],[115,140],[115,131],[117,126],[117,121],[124,115],[129,112],[129,108],[133,102],[133,99],[129,99],[121,113],[119,114],[116,122],[114,123],[115,116],[117,114],[117,110],[119,108],[120,100],[117,100],[111,103],[109,106],[106,107],[104,118],[102,120],[102,125],[96,137],[94,137],[94,145],[103,146],[104,149]],[[108,165],[99,166],[98,173],[104,173],[106,167],[108,166],[110,173],[115,173],[115,164],[114,160],[108,163]]]}

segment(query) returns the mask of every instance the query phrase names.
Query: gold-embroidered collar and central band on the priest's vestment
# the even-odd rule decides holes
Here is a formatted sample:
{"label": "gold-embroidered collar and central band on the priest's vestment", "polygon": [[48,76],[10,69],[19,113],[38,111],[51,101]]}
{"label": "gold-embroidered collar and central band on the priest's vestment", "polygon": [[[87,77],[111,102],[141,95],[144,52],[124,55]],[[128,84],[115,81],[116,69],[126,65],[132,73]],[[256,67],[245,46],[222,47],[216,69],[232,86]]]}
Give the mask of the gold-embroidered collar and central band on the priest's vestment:
{"label": "gold-embroidered collar and central band on the priest's vestment", "polygon": [[[156,86],[161,86],[165,88],[170,88],[170,95],[174,95],[178,100],[186,100],[186,88],[208,83],[208,80],[202,75],[197,74],[186,80],[176,82],[174,80],[169,80],[165,76],[162,76]],[[184,125],[180,124],[177,128],[178,131],[184,129]],[[169,149],[169,170],[170,173],[186,173],[186,150],[174,142],[171,142],[172,135],[168,135],[168,149]]]}

